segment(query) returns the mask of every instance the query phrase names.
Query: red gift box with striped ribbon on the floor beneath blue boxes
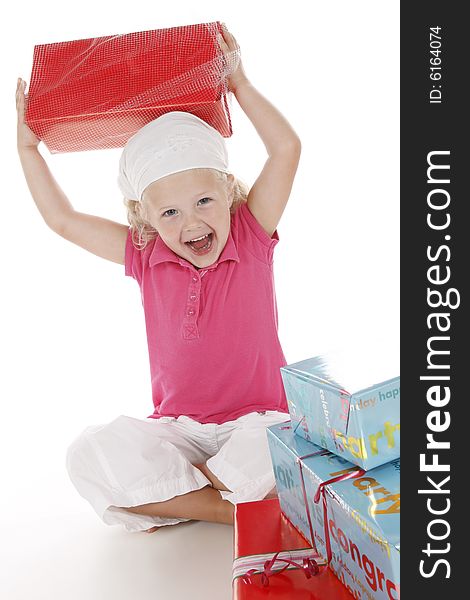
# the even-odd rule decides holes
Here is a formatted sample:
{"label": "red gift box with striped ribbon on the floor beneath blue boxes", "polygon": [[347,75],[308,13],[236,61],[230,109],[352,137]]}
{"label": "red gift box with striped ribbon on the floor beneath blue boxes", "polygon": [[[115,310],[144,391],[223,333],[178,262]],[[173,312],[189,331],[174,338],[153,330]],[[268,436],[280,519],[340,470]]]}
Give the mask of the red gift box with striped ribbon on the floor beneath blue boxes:
{"label": "red gift box with striped ribbon on the floor beneath blue boxes", "polygon": [[[287,552],[290,551],[290,552]],[[282,573],[269,577],[262,584],[262,573],[249,577],[244,574],[256,563],[262,564],[272,556],[290,556],[299,566],[302,557],[315,555],[313,549],[281,514],[279,501],[262,500],[237,504],[234,529],[234,600],[285,599],[285,600],[351,600],[353,596],[326,566],[320,566],[317,575],[306,577],[303,568],[289,565]],[[268,556],[266,556],[268,555]],[[320,562],[320,559],[318,559]],[[278,560],[272,570],[282,569],[288,563]],[[262,569],[262,567],[261,567]],[[257,571],[260,569],[256,568]]]}

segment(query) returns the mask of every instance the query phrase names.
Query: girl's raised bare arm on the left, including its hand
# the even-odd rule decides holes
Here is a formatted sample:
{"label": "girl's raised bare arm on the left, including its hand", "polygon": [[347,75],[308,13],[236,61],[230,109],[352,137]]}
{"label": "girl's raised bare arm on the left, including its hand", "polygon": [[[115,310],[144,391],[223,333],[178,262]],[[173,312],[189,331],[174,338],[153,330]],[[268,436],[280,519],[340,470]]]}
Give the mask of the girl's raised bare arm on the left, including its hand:
{"label": "girl's raised bare arm on the left, including its hand", "polygon": [[124,264],[129,228],[121,223],[74,210],[38,150],[40,140],[24,121],[25,86],[26,83],[18,79],[18,154],[26,182],[41,216],[63,238],[97,256]]}

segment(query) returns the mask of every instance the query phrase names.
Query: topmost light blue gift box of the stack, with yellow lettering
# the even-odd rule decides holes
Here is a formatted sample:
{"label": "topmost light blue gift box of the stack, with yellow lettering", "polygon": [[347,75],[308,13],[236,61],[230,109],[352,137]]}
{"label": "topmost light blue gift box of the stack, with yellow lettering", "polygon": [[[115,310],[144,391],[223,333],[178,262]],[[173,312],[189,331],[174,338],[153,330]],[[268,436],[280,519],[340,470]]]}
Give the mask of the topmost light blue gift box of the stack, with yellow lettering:
{"label": "topmost light blue gift box of the stack, with yellow lettering", "polygon": [[[366,470],[399,458],[400,377],[361,387],[374,377],[370,357],[352,352],[342,356],[343,363],[347,360],[343,371],[356,369],[366,376],[348,378],[343,373],[341,379],[336,373],[341,372],[338,356],[317,356],[281,367],[295,433]],[[378,377],[390,371],[376,369]]]}

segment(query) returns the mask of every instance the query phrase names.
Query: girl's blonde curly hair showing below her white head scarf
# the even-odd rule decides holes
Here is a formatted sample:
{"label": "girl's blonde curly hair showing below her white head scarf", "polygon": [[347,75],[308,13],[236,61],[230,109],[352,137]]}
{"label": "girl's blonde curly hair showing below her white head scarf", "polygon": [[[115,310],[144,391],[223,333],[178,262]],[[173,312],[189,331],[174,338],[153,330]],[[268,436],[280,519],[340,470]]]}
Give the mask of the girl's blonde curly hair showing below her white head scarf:
{"label": "girl's blonde curly hair showing below her white head scarf", "polygon": [[[219,181],[227,183],[227,173],[217,171],[216,169],[194,169],[195,171],[212,171]],[[238,207],[246,202],[248,197],[248,186],[240,179],[235,178],[233,203],[230,207],[230,213],[233,215]],[[137,200],[128,200],[124,198],[124,205],[127,209],[127,220],[129,222],[132,242],[138,250],[143,250],[145,246],[153,239],[158,237],[158,231],[146,221],[142,210],[142,202]]]}

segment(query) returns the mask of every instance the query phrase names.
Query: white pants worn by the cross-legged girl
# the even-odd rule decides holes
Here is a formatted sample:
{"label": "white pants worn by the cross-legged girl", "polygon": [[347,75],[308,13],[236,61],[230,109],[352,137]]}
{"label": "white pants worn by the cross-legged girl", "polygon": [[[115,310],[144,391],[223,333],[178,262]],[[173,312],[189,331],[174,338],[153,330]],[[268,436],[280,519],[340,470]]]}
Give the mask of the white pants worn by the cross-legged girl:
{"label": "white pants worn by the cross-legged girl", "polygon": [[199,490],[210,481],[194,467],[206,463],[237,504],[262,500],[275,486],[266,428],[289,420],[276,411],[249,413],[222,425],[189,417],[134,419],[121,415],[87,427],[67,451],[67,471],[108,525],[141,531],[187,519],[137,515],[124,510]]}

